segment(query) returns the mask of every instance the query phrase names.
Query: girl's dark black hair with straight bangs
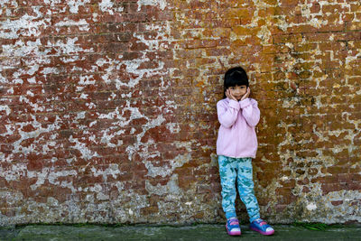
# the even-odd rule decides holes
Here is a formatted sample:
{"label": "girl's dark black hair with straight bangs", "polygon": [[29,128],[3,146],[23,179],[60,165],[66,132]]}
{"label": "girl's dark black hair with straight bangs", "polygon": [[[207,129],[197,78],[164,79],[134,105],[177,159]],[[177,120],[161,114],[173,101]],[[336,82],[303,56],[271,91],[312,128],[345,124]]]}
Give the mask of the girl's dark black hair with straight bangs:
{"label": "girl's dark black hair with straight bangs", "polygon": [[226,97],[226,90],[230,87],[235,86],[249,86],[248,77],[245,73],[245,70],[242,67],[234,67],[232,69],[227,70],[225,73],[225,82],[223,89],[223,97]]}

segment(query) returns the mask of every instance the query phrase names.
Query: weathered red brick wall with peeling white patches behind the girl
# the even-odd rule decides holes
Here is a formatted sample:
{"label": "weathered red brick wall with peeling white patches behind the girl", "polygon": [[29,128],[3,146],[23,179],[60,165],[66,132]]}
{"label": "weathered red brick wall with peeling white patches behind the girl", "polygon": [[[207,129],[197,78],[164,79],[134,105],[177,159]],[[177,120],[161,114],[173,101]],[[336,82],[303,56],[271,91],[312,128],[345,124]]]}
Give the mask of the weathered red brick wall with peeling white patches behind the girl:
{"label": "weathered red brick wall with peeling white patches behind the girl", "polygon": [[3,0],[0,17],[1,225],[223,221],[216,103],[237,65],[264,218],[361,220],[359,1]]}

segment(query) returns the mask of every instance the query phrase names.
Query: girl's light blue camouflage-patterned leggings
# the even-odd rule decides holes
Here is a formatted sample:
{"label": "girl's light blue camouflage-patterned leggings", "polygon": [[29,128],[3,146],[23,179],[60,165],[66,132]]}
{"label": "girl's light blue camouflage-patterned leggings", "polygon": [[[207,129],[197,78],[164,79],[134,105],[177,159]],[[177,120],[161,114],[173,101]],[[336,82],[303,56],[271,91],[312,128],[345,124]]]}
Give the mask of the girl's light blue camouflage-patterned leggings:
{"label": "girl's light blue camouflage-patterned leggings", "polygon": [[236,184],[239,196],[245,203],[250,222],[260,218],[252,180],[252,159],[219,155],[218,163],[222,186],[222,208],[226,213],[226,218],[236,217]]}

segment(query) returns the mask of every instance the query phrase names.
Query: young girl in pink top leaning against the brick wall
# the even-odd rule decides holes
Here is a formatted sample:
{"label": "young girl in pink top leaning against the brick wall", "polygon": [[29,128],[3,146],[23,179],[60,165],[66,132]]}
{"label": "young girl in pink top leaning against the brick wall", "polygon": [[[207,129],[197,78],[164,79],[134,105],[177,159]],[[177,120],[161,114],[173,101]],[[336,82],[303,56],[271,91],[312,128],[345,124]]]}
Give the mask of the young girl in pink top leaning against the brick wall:
{"label": "young girl in pink top leaning against the brick wall", "polygon": [[273,228],[260,218],[252,177],[252,158],[257,151],[255,125],[260,119],[257,101],[250,98],[248,77],[241,67],[227,70],[224,98],[217,103],[220,123],[217,139],[222,208],[227,218],[227,233],[241,235],[236,218],[236,187],[250,219],[250,228],[272,235]]}

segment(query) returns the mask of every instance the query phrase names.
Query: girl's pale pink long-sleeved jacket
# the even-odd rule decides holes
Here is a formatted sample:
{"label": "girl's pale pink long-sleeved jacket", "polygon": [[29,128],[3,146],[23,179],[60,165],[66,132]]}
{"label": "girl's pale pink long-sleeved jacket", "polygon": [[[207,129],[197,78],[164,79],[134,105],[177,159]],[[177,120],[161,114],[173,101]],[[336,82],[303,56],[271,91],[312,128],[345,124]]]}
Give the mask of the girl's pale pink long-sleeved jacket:
{"label": "girl's pale pink long-sleeved jacket", "polygon": [[224,98],[217,103],[220,123],[217,139],[217,154],[234,158],[255,158],[257,136],[255,125],[260,119],[257,101],[245,98],[242,101]]}

